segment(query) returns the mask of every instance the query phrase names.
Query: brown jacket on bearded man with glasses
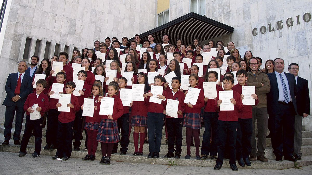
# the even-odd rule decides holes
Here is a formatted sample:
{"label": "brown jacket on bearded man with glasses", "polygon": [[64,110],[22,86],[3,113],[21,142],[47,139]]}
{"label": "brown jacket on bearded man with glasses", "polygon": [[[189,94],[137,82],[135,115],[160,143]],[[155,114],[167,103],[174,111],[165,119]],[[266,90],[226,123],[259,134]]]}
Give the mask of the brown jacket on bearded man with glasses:
{"label": "brown jacket on bearded man with glasses", "polygon": [[257,71],[256,76],[252,72],[248,72],[247,77],[247,86],[256,87],[256,94],[259,100],[259,103],[252,107],[266,107],[266,94],[269,93],[271,89],[269,77],[261,71]]}

